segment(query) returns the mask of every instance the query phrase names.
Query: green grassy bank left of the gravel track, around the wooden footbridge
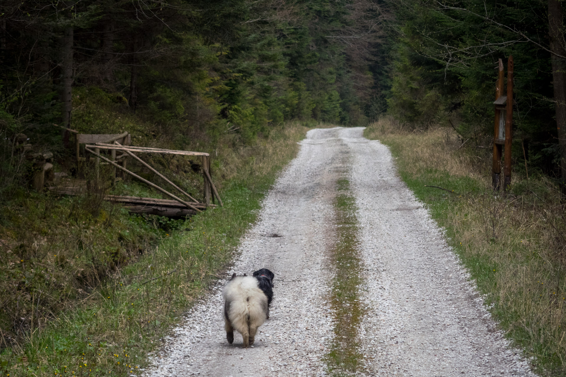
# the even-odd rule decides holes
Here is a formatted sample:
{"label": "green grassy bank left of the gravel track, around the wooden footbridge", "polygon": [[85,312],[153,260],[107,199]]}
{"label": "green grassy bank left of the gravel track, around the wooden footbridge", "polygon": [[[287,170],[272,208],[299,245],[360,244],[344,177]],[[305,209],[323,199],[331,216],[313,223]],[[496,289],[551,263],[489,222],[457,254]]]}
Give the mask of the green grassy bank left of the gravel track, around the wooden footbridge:
{"label": "green grassy bank left of the gravel track, around the wooden footbridge", "polygon": [[[22,321],[26,323],[17,340],[4,337],[0,354],[4,374],[108,376],[139,371],[148,352],[159,349],[160,337],[178,322],[182,311],[222,277],[233,260],[239,237],[256,218],[261,198],[277,172],[294,157],[297,141],[306,130],[300,124],[288,124],[247,146],[228,148],[220,142],[213,154],[217,157],[218,153],[213,178],[225,206],[176,222],[171,231],[152,227],[151,222],[104,202],[96,215],[83,214],[69,221],[72,206],[92,207],[82,202],[88,197],[56,200],[38,193],[12,202],[14,216],[20,205],[31,209],[40,203],[40,208],[34,213],[37,216],[23,213],[19,218],[29,223],[22,223],[24,227],[39,227],[32,227],[28,236],[25,229],[16,228],[18,218],[5,216],[2,224],[4,244],[12,254],[16,253],[12,249],[17,246],[17,237],[29,237],[28,245],[37,252],[25,266],[15,263],[14,257],[2,264],[5,276],[16,276],[13,284],[24,284],[20,288],[25,289],[12,292],[19,296],[6,297],[25,303],[25,310],[19,313],[25,315]],[[109,211],[119,216],[110,216]],[[119,235],[131,232],[135,233],[130,235],[131,242],[122,239],[118,243],[132,245],[126,254],[131,260],[107,268],[104,279],[93,280],[89,289],[79,288],[85,271],[92,274],[96,271],[93,266],[108,267],[116,255],[116,250],[100,248],[97,242],[114,242]],[[146,236],[152,239],[142,245],[139,237]],[[72,242],[65,243],[66,237]],[[54,274],[48,276],[45,268]],[[33,275],[37,271],[41,275]],[[61,300],[66,292],[70,296]],[[54,306],[46,311],[42,307],[45,295],[53,294],[61,297],[53,297]]]}

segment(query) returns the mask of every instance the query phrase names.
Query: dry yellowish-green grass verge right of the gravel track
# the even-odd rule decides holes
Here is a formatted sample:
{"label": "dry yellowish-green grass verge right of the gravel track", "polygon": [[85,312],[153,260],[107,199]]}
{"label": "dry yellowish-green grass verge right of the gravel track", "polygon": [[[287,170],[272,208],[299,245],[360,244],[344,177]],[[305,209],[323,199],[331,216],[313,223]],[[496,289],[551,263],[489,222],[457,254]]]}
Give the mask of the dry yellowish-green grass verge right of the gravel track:
{"label": "dry yellowish-green grass verge right of the gravel track", "polygon": [[509,338],[543,375],[566,375],[566,219],[555,185],[516,165],[508,194],[494,193],[490,150],[462,146],[451,128],[410,132],[383,118],[365,132],[389,146]]}

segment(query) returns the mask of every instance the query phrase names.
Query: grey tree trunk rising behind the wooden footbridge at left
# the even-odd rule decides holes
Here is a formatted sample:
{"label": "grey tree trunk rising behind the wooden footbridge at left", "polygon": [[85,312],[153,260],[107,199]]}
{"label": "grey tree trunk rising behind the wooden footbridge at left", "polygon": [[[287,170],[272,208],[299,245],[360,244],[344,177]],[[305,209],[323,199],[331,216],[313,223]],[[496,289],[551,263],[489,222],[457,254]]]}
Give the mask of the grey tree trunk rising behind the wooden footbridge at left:
{"label": "grey tree trunk rising behind the wooden footbridge at left", "polygon": [[[71,128],[71,111],[72,111],[72,76],[73,76],[73,28],[65,28],[63,33],[63,51],[61,62],[62,90],[61,102],[63,108],[61,111],[62,125],[65,128]],[[63,142],[68,145],[68,131],[63,131]]]}

